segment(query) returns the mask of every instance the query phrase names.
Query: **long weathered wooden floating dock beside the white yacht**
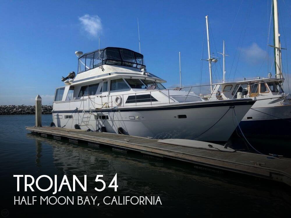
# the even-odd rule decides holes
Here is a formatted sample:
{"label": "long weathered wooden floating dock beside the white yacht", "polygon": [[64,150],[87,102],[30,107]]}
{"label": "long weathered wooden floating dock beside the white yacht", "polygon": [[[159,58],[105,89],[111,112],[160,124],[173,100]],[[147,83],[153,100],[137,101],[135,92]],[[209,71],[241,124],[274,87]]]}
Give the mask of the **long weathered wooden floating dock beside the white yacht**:
{"label": "long weathered wooden floating dock beside the white yacht", "polygon": [[214,169],[266,178],[291,186],[291,159],[288,158],[269,159],[267,157],[270,156],[254,153],[197,149],[164,144],[158,142],[157,139],[78,129],[49,126],[25,128],[32,133],[38,133],[42,136],[52,135],[56,139],[68,138],[73,142],[81,140],[97,146],[104,144],[123,151],[134,150],[160,158],[172,158]]}

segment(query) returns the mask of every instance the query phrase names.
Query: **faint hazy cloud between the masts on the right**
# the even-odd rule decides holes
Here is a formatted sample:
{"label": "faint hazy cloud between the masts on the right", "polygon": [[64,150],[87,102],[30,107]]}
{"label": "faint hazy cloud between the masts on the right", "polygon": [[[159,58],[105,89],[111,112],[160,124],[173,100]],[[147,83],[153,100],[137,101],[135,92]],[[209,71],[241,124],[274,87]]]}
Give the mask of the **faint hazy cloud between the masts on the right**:
{"label": "faint hazy cloud between the masts on the right", "polygon": [[261,49],[257,43],[253,42],[249,47],[242,48],[244,60],[251,64],[260,64],[266,57],[266,51]]}

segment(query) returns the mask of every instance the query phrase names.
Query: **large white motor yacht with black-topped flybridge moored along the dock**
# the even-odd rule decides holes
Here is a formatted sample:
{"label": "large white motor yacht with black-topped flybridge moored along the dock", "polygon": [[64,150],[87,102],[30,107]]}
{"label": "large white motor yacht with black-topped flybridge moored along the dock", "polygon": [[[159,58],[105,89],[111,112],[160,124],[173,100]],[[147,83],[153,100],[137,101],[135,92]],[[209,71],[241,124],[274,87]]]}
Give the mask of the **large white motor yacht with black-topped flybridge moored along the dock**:
{"label": "large white motor yacht with black-topped flybridge moored along the dock", "polygon": [[55,92],[52,125],[58,127],[226,142],[235,120],[255,103],[254,98],[205,101],[191,87],[166,89],[165,80],[146,71],[143,55],[129,49],[76,54],[78,74],[63,78],[65,86]]}

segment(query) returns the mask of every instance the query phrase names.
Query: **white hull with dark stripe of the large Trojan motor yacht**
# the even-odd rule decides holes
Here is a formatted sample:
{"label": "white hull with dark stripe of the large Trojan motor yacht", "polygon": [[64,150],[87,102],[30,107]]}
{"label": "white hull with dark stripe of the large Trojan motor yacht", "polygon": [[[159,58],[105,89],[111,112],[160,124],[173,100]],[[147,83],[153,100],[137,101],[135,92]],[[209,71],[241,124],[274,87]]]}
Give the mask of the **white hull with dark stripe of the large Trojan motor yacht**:
{"label": "white hull with dark stripe of the large Trojan motor yacht", "polygon": [[[81,129],[96,131],[105,126],[107,132],[118,133],[121,127],[124,134],[140,137],[226,142],[237,127],[236,118],[241,121],[253,103],[251,100],[224,101],[91,110],[87,111],[88,121],[83,123],[80,123],[82,111],[54,111],[53,120],[56,126],[65,128],[79,124]],[[65,115],[73,118],[64,119]],[[99,119],[97,115],[108,119]]]}

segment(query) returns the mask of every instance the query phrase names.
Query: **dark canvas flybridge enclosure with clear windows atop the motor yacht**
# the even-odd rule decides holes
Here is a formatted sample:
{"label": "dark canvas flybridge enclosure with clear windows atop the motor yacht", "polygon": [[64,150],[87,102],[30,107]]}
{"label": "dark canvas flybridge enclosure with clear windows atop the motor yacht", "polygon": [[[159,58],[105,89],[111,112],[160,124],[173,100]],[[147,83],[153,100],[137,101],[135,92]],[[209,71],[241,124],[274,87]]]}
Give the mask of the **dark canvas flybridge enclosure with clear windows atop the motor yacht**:
{"label": "dark canvas flybridge enclosure with clear windows atop the motor yacht", "polygon": [[81,55],[78,62],[78,73],[104,64],[145,69],[142,54],[124,48],[107,47]]}

